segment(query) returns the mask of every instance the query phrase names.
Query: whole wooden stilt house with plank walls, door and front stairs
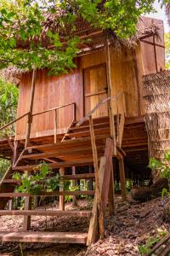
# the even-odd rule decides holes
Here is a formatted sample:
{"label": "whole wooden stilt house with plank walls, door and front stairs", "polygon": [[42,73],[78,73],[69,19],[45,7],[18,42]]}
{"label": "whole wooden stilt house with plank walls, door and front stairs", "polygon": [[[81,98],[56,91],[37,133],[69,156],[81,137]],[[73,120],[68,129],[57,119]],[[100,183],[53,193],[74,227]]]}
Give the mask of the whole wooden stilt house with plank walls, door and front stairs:
{"label": "whole wooden stilt house with plank walls, door and front stairs", "polygon": [[[1,156],[13,163],[0,183],[0,214],[24,215],[25,232],[2,232],[2,241],[89,245],[104,236],[107,204],[115,212],[114,177],[120,179],[124,201],[126,177],[148,178],[142,76],[164,69],[163,23],[142,18],[139,26],[135,42],[119,42],[81,21],[77,36],[92,38],[92,43],[80,46],[74,70],[59,77],[48,76],[46,69],[20,75],[15,137],[0,141]],[[46,196],[59,195],[60,210],[31,210],[32,195],[15,193],[12,175],[34,172],[42,160],[64,181],[95,180],[95,189],[47,192]],[[79,166],[86,166],[86,171]],[[65,211],[65,195],[94,194],[92,212]],[[26,196],[25,210],[5,210],[8,200],[19,196]],[[88,233],[27,231],[31,215],[70,214],[90,217]]]}

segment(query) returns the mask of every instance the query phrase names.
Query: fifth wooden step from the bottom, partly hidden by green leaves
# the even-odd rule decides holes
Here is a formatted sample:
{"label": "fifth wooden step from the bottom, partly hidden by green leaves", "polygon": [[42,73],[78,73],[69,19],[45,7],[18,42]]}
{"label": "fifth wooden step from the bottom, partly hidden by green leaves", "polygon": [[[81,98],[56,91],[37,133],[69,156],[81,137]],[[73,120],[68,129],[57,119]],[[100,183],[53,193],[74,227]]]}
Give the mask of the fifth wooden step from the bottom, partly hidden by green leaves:
{"label": "fifth wooden step from the bottom, partly hidden by green leaves", "polygon": [[[93,159],[84,159],[84,160],[77,160],[77,161],[63,161],[63,162],[58,162],[58,163],[50,163],[48,164],[48,166],[51,169],[54,168],[60,168],[60,167],[71,167],[71,166],[90,166],[93,165],[94,160]],[[16,166],[13,167],[14,171],[20,171],[20,172],[24,172],[24,171],[34,171],[36,169],[37,165],[34,166]]]}

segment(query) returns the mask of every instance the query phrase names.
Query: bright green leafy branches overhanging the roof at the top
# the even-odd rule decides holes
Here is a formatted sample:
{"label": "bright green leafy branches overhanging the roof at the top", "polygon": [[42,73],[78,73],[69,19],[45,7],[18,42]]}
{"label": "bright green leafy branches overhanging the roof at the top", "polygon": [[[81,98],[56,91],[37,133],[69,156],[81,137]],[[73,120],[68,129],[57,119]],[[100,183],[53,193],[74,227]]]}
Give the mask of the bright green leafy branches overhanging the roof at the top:
{"label": "bright green leafy branches overhanging the roof at the top", "polygon": [[[2,0],[0,68],[13,65],[26,70],[47,67],[50,73],[67,73],[75,67],[73,59],[79,39],[72,32],[76,29],[77,17],[82,16],[102,30],[112,30],[119,38],[128,38],[135,33],[139,16],[153,10],[153,3],[154,0],[107,0],[101,8],[101,0]],[[54,15],[56,30],[53,32],[48,26],[44,29],[47,15]],[[65,27],[69,27],[69,35]],[[46,38],[53,48],[42,44],[40,38]],[[19,43],[23,46],[19,47]]]}

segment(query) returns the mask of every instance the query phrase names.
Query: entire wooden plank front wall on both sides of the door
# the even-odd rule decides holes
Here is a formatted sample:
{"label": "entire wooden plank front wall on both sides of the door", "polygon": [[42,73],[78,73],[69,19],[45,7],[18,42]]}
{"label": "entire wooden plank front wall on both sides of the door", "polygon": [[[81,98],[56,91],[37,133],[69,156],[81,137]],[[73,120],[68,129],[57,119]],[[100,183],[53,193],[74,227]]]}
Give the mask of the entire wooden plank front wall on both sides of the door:
{"label": "entire wooden plank front wall on both sides of the door", "polygon": [[[116,96],[120,92],[125,92],[127,116],[138,116],[142,112],[142,96],[140,91],[142,86],[141,79],[139,79],[143,73],[141,63],[140,49],[136,52],[132,49],[116,52],[111,48],[112,94]],[[85,73],[85,69],[101,64],[105,64],[104,50],[79,57],[77,59],[77,68],[70,74],[62,75],[58,78],[54,76],[49,77],[47,70],[39,71],[37,73],[33,113],[76,102],[77,119],[81,119],[85,112],[83,106],[83,83],[85,84],[85,81],[83,81],[83,73]],[[20,81],[18,116],[26,113],[28,109],[30,84],[31,75],[23,75]],[[119,113],[122,113],[122,104],[122,97],[120,97],[120,101],[118,102]],[[114,109],[116,113],[116,104],[114,104]],[[71,124],[71,107],[59,110],[58,118],[58,133],[65,132]],[[16,138],[24,138],[25,131],[26,119],[22,119],[16,127]],[[44,113],[33,119],[31,137],[53,134],[54,113]]]}

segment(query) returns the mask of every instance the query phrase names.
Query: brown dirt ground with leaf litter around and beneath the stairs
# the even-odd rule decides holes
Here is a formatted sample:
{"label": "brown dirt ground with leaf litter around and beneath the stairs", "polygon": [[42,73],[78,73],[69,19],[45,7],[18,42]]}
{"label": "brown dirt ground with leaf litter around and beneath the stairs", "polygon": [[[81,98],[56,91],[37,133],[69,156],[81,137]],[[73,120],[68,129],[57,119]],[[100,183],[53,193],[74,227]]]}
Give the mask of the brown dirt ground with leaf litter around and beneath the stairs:
{"label": "brown dirt ground with leaf litter around and beneath the stairs", "polygon": [[[117,201],[116,215],[105,218],[105,240],[97,241],[91,247],[82,245],[22,244],[24,256],[122,256],[139,255],[138,245],[150,234],[156,236],[158,231],[170,231],[170,223],[163,217],[163,208],[170,198],[157,198],[145,203],[129,199]],[[48,207],[49,209],[50,207]],[[54,209],[54,208],[53,208]],[[74,209],[70,204],[67,210]],[[78,209],[89,209],[87,201],[79,201]],[[54,209],[55,210],[55,209]],[[88,231],[87,218],[52,218],[32,217],[31,230],[54,231]],[[20,216],[0,217],[1,230],[22,230],[23,218]],[[0,255],[22,255],[19,243],[0,243]]]}

